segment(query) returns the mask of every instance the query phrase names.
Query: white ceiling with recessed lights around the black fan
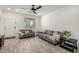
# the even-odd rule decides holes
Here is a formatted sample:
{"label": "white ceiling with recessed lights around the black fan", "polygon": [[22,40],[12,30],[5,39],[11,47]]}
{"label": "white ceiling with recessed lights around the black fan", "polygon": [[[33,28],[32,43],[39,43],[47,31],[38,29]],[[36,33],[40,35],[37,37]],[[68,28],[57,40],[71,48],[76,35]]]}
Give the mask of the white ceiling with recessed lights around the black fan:
{"label": "white ceiling with recessed lights around the black fan", "polygon": [[[67,7],[67,5],[42,5],[42,8],[37,10],[36,15],[43,16],[64,7]],[[0,5],[0,9],[20,12],[25,14],[33,14],[32,12],[28,12],[30,11],[31,8],[32,8],[31,5]]]}

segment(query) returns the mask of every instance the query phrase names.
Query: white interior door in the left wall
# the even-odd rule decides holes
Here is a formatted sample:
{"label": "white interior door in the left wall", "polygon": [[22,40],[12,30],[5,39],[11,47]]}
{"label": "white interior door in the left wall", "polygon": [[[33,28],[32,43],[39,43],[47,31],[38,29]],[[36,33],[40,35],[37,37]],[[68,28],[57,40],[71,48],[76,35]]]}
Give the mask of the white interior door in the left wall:
{"label": "white interior door in the left wall", "polygon": [[11,17],[5,17],[4,31],[5,31],[5,37],[15,37],[16,36],[15,19],[13,19]]}

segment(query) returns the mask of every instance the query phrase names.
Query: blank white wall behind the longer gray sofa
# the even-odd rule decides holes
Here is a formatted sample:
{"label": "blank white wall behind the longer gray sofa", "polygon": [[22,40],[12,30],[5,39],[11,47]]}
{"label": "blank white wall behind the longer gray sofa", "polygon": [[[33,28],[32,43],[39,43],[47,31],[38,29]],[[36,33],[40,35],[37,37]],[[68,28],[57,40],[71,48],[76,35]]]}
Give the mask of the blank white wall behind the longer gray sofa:
{"label": "blank white wall behind the longer gray sofa", "polygon": [[72,31],[72,37],[79,41],[79,6],[69,6],[49,13],[42,17],[41,24],[43,30]]}

